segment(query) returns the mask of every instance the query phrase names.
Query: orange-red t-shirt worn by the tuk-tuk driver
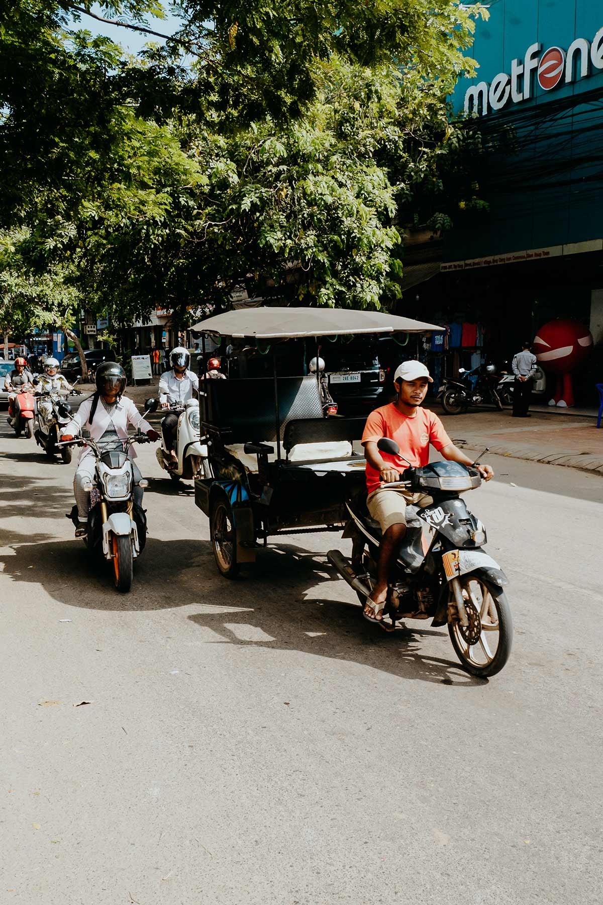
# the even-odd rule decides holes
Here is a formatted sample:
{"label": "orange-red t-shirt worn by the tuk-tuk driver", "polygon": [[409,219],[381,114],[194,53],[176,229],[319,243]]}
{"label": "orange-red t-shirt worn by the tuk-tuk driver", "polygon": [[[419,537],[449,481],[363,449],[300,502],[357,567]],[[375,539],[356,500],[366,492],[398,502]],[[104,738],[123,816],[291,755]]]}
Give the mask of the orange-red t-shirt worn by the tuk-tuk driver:
{"label": "orange-red t-shirt worn by the tuk-tuk driver", "polygon": [[[383,462],[391,462],[397,472],[403,472],[408,468],[408,462],[415,467],[429,464],[429,443],[438,452],[444,446],[448,446],[448,443],[452,443],[438,415],[430,412],[429,408],[419,406],[415,414],[408,415],[399,412],[394,403],[376,408],[366,419],[362,443],[368,443],[370,440],[377,443],[382,437],[389,437],[400,446],[400,455],[380,451]],[[401,458],[402,456],[404,458]],[[405,462],[405,459],[408,459],[408,462]],[[366,487],[369,493],[376,491],[380,483],[379,472],[367,462]]]}

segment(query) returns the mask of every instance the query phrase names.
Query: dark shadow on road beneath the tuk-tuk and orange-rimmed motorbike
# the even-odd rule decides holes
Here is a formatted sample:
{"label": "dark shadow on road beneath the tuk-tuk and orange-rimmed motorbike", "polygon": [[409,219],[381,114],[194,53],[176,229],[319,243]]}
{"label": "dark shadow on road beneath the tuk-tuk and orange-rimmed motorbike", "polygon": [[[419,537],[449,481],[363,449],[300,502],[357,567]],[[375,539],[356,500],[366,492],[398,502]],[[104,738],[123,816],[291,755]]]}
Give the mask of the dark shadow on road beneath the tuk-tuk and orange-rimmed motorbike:
{"label": "dark shadow on road beneath the tuk-tuk and orange-rimmed motorbike", "polygon": [[209,541],[149,538],[135,566],[132,591],[121,595],[112,585],[109,564],[91,568],[75,539],[44,543],[44,536],[15,538],[12,532],[9,538],[14,553],[0,556],[5,575],[39,584],[66,605],[107,612],[196,605],[203,612],[187,618],[211,634],[208,643],[310,653],[408,680],[462,687],[485,683],[457,662],[424,652],[424,644],[441,639],[448,653],[446,629],[426,623],[385,633],[363,620],[360,605],[350,600],[353,592],[335,575],[324,552],[292,544],[268,548],[247,580],[228,581],[216,571]]}

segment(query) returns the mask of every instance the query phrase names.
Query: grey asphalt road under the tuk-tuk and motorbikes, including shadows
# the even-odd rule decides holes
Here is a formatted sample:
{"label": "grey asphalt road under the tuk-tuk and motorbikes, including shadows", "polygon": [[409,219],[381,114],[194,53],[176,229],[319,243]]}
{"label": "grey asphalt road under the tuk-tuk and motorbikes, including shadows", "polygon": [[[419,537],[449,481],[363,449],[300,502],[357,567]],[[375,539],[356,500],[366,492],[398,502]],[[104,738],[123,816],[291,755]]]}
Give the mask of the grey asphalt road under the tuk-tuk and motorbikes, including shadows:
{"label": "grey asphalt road under the tuk-tuk and motorbikes, including shadows", "polygon": [[149,447],[118,595],[64,518],[73,466],[4,415],[0,452],[3,905],[599,905],[598,476],[494,457],[471,494],[515,626],[481,681],[445,630],[363,621],[337,535],[221,578]]}

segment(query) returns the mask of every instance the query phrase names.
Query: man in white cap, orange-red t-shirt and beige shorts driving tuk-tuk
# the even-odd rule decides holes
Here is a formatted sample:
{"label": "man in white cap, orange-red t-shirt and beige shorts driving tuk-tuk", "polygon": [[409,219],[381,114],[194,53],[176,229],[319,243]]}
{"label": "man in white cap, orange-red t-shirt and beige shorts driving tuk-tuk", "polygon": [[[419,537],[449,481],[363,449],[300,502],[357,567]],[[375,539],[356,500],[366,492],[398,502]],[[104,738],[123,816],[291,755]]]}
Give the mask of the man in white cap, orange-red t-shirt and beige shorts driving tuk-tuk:
{"label": "man in white cap, orange-red t-shirt and beige shorts driving tuk-tuk", "polygon": [[[407,503],[428,506],[431,502],[427,494],[410,493],[403,487],[384,488],[382,483],[399,481],[401,472],[409,465],[427,465],[429,443],[449,462],[473,464],[452,443],[438,415],[421,407],[429,383],[433,383],[433,380],[425,365],[420,361],[403,361],[393,376],[396,401],[375,409],[364,426],[362,443],[369,493],[366,505],[372,518],[382,527],[377,584],[364,605],[364,615],[372,622],[381,622],[383,618],[391,566],[406,533]],[[400,446],[400,454],[380,452],[377,443],[382,437],[395,440]],[[485,481],[494,477],[489,465],[478,465],[477,468]]]}

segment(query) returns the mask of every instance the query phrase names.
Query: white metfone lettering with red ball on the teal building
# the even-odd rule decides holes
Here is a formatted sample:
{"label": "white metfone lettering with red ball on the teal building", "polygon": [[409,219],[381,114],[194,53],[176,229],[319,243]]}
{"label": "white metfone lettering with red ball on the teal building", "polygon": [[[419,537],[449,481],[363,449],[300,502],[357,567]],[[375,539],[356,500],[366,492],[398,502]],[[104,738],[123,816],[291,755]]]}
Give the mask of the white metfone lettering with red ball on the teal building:
{"label": "white metfone lettering with red ball on the teal building", "polygon": [[503,110],[508,103],[517,104],[533,97],[533,77],[542,90],[550,91],[560,85],[584,79],[594,71],[603,70],[603,28],[589,43],[576,38],[567,52],[550,47],[542,53],[542,44],[531,44],[523,60],[512,60],[511,74],[499,72],[490,84],[480,81],[466,90],[465,112],[485,116],[492,110]]}

